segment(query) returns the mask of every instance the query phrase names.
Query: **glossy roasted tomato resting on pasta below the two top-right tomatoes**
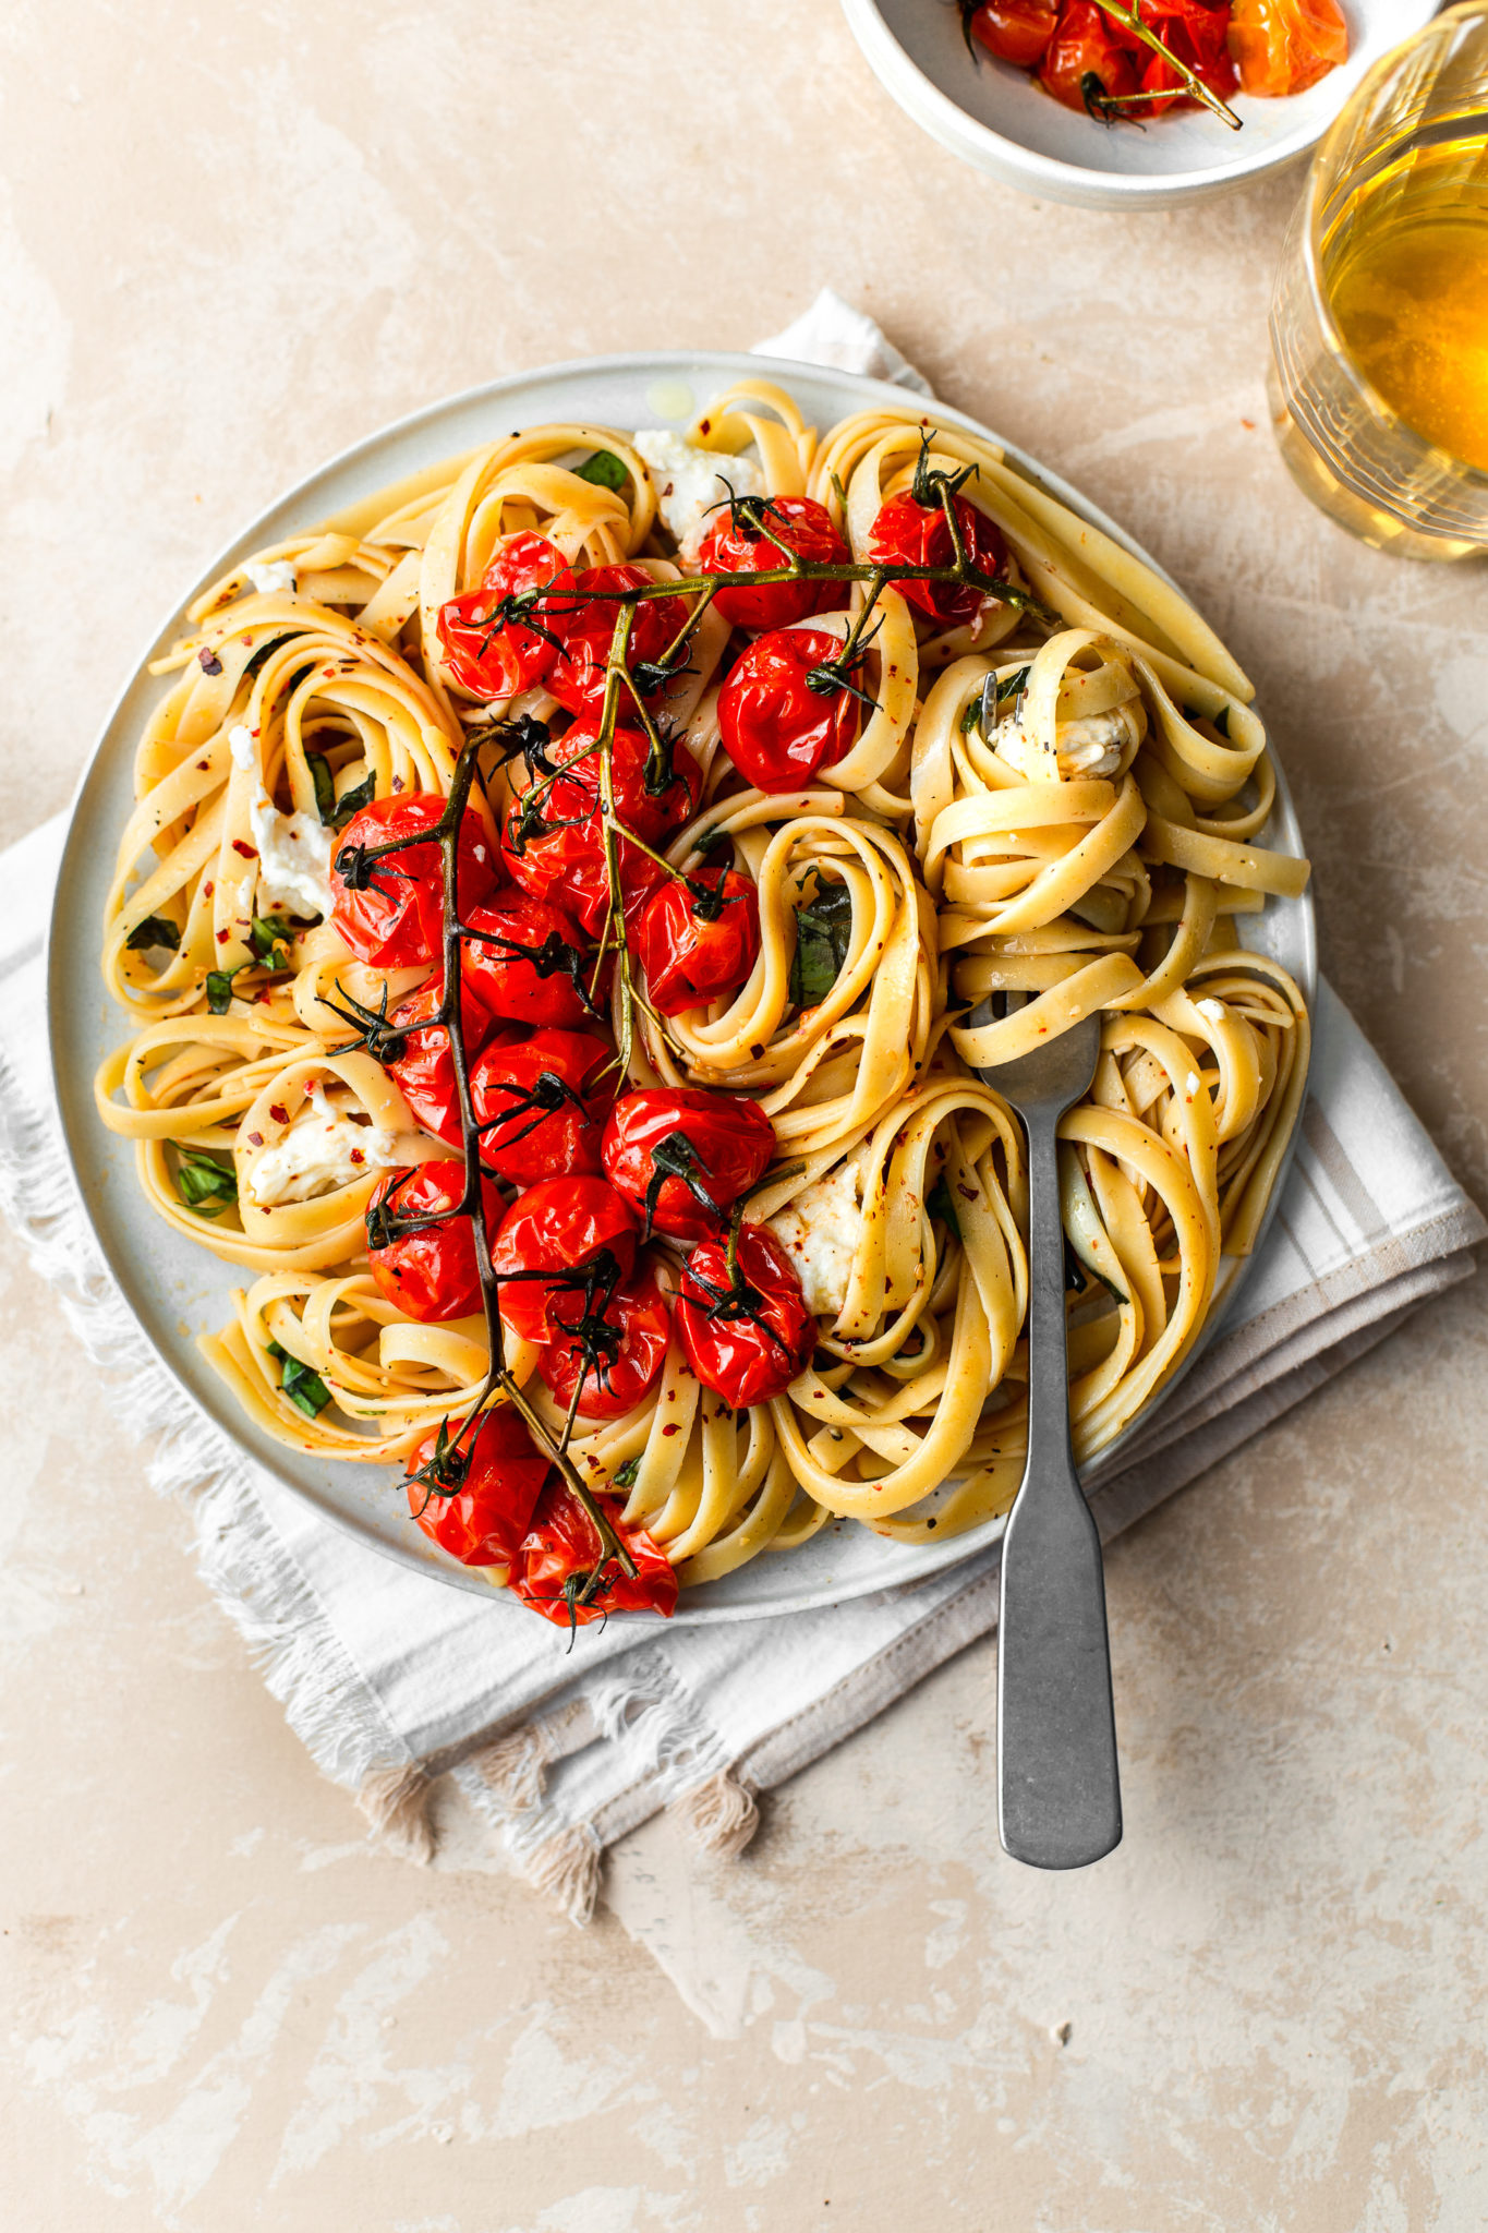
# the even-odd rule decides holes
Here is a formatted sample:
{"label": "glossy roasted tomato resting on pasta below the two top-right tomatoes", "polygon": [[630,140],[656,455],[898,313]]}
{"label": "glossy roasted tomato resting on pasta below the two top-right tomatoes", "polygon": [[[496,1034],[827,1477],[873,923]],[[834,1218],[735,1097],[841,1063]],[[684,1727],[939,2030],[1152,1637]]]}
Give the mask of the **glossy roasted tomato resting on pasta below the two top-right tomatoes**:
{"label": "glossy roasted tomato resting on pasta below the two top-right tomatoes", "polygon": [[718,732],[756,790],[799,790],[852,750],[859,699],[823,674],[841,648],[828,627],[781,627],[734,661],[718,692]]}

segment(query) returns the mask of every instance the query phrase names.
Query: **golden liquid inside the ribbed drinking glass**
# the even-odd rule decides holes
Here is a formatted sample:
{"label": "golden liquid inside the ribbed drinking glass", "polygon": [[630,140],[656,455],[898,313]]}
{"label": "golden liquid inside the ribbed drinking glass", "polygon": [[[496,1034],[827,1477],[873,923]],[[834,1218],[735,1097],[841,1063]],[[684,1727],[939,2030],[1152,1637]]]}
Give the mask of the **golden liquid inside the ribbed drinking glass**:
{"label": "golden liquid inside the ribbed drinking glass", "polygon": [[1488,138],[1359,188],[1323,252],[1347,355],[1408,427],[1488,471]]}

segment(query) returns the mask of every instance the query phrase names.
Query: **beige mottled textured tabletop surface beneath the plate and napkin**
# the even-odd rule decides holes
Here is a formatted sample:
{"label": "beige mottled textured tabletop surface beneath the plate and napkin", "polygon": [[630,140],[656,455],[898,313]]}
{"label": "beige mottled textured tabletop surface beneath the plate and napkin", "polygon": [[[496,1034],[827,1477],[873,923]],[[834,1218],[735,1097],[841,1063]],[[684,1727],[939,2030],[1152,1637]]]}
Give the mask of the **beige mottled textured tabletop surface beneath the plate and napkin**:
{"label": "beige mottled textured tabletop surface beneath the plate and napkin", "polygon": [[[321,456],[542,360],[747,344],[832,279],[1227,634],[1327,967],[1488,1192],[1484,574],[1350,545],[1272,453],[1296,176],[1156,219],[1020,201],[879,94],[832,0],[11,0],[0,125],[0,837]],[[1488,2220],[1479,1291],[1115,1545],[1102,1869],[997,1853],[979,1648],[741,1865],[631,1840],[580,1936],[460,1824],[462,1867],[366,1849],[13,1250],[0,1288],[7,2229]]]}

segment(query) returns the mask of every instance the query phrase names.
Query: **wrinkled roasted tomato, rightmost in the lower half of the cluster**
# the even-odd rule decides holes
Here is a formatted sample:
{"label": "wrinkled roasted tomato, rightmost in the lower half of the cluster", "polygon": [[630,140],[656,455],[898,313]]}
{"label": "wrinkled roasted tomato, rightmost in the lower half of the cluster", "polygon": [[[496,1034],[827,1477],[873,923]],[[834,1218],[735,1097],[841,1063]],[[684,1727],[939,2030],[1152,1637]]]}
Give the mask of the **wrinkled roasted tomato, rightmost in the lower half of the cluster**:
{"label": "wrinkled roasted tomato, rightmost in the lower half of the cluster", "polygon": [[817,1346],[817,1320],[805,1309],[796,1268],[767,1226],[738,1228],[732,1282],[723,1239],[692,1250],[676,1331],[703,1387],[734,1411],[783,1396]]}

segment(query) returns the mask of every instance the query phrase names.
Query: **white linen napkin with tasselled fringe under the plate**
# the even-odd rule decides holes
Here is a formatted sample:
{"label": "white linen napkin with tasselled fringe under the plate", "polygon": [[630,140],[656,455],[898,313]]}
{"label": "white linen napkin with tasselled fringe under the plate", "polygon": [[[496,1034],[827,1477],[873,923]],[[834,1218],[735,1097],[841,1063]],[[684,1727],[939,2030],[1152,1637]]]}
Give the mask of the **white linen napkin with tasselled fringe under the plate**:
{"label": "white linen napkin with tasselled fringe under the plate", "polygon": [[[830,288],[770,355],[926,382]],[[310,1757],[408,1858],[433,1851],[433,1782],[457,1777],[511,1862],[576,1920],[602,1849],[674,1806],[738,1851],[754,1795],[839,1744],[997,1619],[997,1550],[850,1606],[721,1628],[611,1623],[567,1637],[395,1565],[245,1460],[165,1373],[114,1288],[67,1172],[45,1058],[40,938],[62,817],[0,862],[0,1208],[158,1436],[163,1489],[196,1512],[201,1572],[259,1657]],[[1488,1230],[1323,985],[1296,1161],[1243,1315],[1140,1449],[1100,1480],[1102,1534],[1131,1525],[1472,1271]]]}

